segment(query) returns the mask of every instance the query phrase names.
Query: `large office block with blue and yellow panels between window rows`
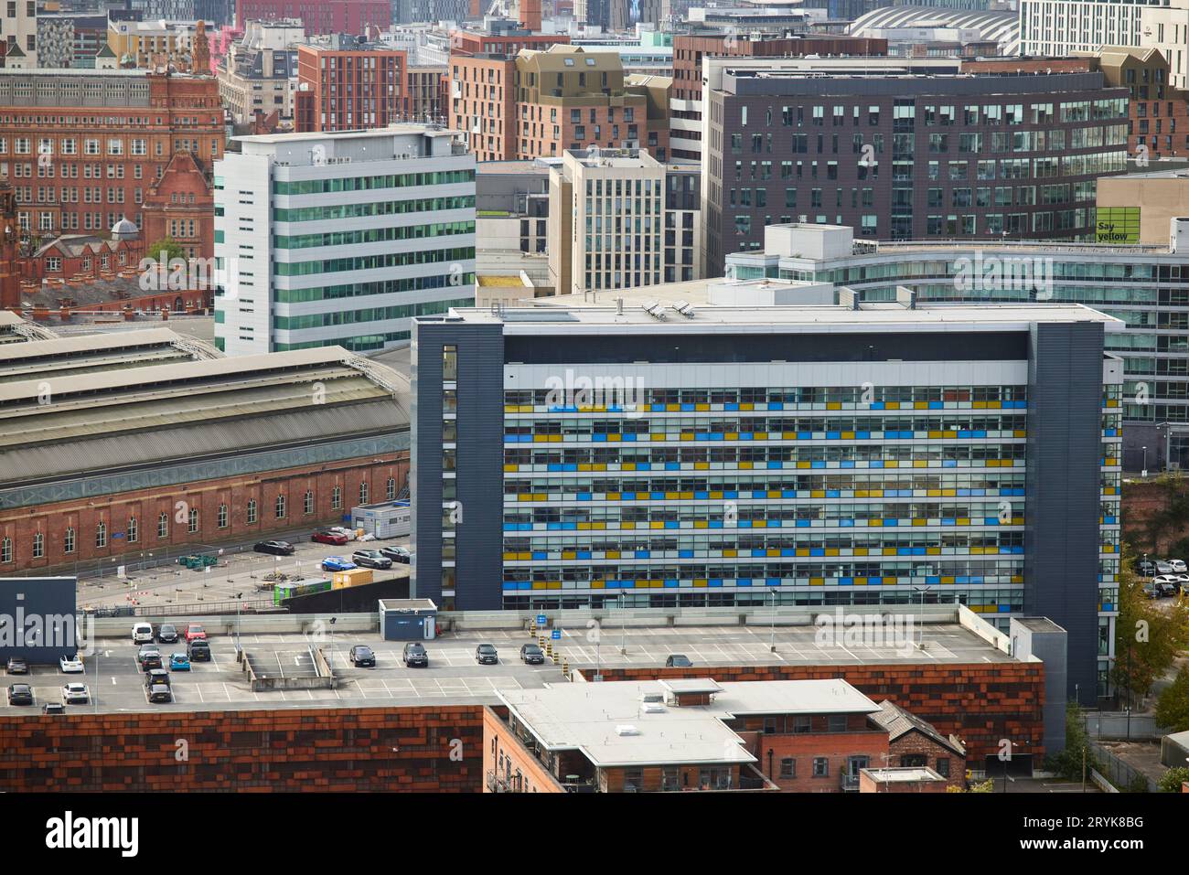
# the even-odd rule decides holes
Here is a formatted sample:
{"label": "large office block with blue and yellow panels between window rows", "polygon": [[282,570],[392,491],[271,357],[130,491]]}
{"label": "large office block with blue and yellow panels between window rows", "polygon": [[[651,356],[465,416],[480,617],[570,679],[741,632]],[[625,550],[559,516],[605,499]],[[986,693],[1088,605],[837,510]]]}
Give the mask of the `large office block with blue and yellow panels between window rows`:
{"label": "large office block with blue and yellow panels between window rows", "polygon": [[679,284],[641,290],[643,307],[416,320],[415,596],[454,610],[927,598],[1005,631],[1051,617],[1070,686],[1105,691],[1122,405],[1105,336],[1122,323],[911,295],[760,306],[768,284],[721,284],[711,306],[674,301],[693,285]]}

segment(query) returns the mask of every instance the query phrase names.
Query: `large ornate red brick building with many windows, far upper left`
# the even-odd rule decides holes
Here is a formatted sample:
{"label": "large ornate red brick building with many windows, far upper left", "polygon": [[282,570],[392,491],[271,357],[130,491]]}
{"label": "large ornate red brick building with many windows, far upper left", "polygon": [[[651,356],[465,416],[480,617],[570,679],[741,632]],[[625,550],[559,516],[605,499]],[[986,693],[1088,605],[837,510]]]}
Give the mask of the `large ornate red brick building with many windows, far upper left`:
{"label": "large ornate red brick building with many windows, far upper left", "polygon": [[[0,70],[0,177],[18,228],[36,237],[144,228],[145,199],[180,152],[210,177],[224,153],[213,76],[144,70]],[[21,95],[36,95],[30,101]],[[207,183],[209,189],[209,182]],[[210,204],[209,191],[206,203]],[[214,248],[210,221],[206,239]]]}

